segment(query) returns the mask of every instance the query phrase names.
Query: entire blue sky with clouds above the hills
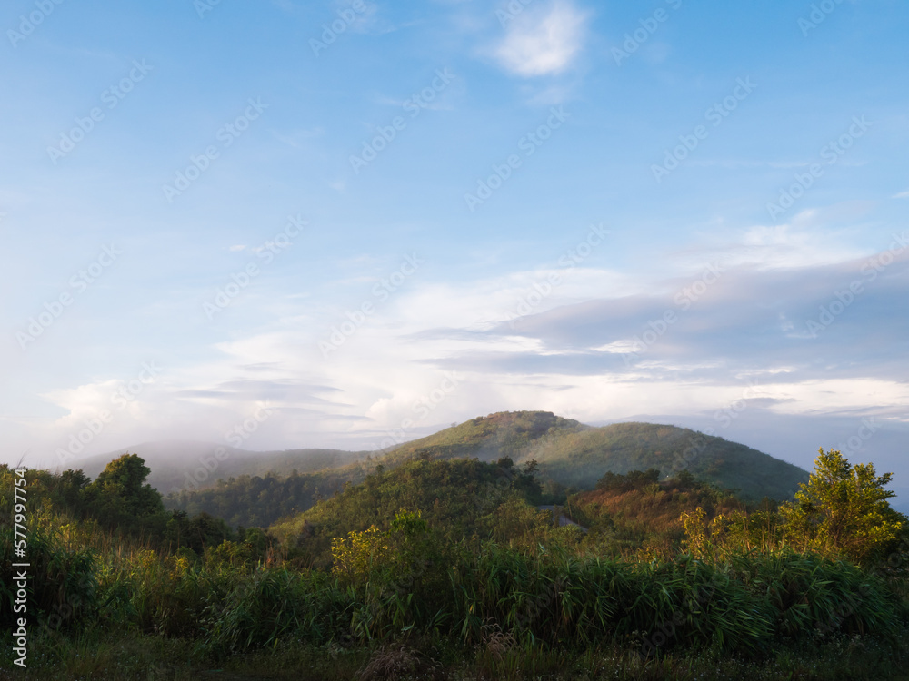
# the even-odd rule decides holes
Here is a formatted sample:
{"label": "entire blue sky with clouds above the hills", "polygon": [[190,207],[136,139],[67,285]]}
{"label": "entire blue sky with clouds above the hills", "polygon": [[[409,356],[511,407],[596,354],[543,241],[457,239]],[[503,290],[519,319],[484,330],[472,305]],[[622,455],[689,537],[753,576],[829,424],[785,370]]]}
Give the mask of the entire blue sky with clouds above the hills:
{"label": "entire blue sky with clouds above the hills", "polygon": [[546,410],[835,447],[909,498],[909,5],[11,0],[0,30],[5,460]]}

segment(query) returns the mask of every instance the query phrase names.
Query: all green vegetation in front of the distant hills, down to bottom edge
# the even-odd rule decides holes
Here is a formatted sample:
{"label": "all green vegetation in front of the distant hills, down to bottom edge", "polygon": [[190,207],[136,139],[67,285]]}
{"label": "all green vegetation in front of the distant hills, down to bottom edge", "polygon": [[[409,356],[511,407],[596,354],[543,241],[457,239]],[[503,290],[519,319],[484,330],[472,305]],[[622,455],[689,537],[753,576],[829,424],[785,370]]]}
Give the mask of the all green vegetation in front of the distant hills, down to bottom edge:
{"label": "all green vegetation in front of the distant hills, down to bottom edge", "polygon": [[[586,532],[539,511],[534,465],[507,458],[379,470],[270,532],[166,512],[135,455],[95,481],[26,475],[29,671],[6,648],[8,676],[841,679],[909,661],[905,518],[889,474],[839,452],[755,508],[690,475],[607,475],[565,504]],[[5,571],[14,478],[0,468]]]}

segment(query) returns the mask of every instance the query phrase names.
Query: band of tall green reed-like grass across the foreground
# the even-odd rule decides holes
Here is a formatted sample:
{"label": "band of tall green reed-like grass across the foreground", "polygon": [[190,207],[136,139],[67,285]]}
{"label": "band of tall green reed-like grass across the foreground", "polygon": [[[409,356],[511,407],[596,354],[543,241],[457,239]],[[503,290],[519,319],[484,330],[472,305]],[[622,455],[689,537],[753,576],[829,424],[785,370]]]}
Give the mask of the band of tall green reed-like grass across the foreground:
{"label": "band of tall green reed-like grass across the foreground", "polygon": [[[101,537],[94,541],[103,545]],[[464,543],[445,561],[406,575],[376,573],[350,583],[319,570],[238,567],[217,562],[215,553],[163,555],[113,543],[105,551],[67,548],[65,537],[41,529],[29,542],[30,612],[44,623],[56,615],[53,632],[94,621],[188,639],[198,654],[215,657],[291,640],[349,646],[448,632],[502,658],[604,645],[644,657],[673,649],[758,656],[781,641],[895,637],[909,614],[884,578],[812,554],[648,563],[557,546]],[[0,549],[8,570],[9,528],[0,528]],[[8,577],[0,589],[11,603]],[[4,607],[7,620],[10,612]]]}

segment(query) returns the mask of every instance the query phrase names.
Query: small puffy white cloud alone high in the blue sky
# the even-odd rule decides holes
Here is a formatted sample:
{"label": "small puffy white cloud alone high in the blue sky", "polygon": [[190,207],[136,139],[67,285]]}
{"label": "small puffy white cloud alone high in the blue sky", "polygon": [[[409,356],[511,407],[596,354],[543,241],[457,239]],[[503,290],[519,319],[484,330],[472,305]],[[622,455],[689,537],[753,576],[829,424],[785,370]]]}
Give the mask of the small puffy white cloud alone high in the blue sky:
{"label": "small puffy white cloud alone high in the blue sky", "polygon": [[543,11],[525,11],[507,26],[495,57],[506,70],[525,78],[562,73],[581,50],[588,18],[564,0]]}

